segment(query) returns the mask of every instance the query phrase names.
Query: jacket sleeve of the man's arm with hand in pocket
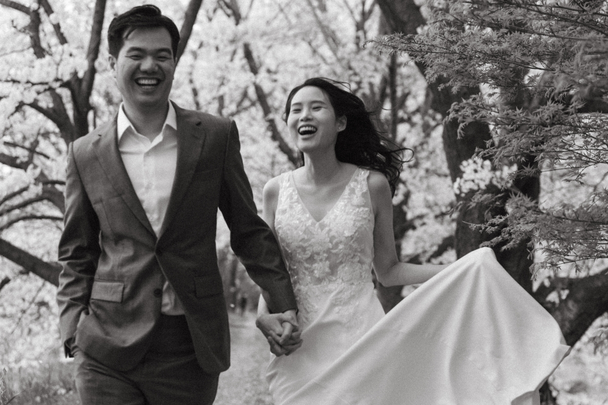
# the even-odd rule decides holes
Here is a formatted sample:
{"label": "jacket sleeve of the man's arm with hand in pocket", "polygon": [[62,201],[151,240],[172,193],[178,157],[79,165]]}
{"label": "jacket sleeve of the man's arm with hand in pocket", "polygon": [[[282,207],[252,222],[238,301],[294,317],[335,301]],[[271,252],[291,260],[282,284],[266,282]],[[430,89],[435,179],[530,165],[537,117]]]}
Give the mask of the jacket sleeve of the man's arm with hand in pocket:
{"label": "jacket sleeve of the man's arm with hand in pocket", "polygon": [[57,303],[61,341],[66,356],[76,333],[81,313],[87,311],[93,277],[100,256],[99,221],[78,172],[74,143],[67,149],[66,213],[59,242]]}

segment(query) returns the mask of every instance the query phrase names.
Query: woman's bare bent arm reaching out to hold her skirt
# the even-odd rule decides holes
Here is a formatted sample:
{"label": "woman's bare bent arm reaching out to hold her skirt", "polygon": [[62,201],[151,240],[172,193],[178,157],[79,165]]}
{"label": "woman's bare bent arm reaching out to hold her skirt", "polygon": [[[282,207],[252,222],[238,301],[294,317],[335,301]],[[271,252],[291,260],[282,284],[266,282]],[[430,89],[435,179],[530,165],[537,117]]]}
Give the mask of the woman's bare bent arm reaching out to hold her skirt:
{"label": "woman's bare bent arm reaching out to hold her skirt", "polygon": [[379,172],[368,178],[374,210],[374,270],[382,285],[421,284],[447,267],[445,264],[410,264],[399,262],[393,234],[393,202],[389,182]]}

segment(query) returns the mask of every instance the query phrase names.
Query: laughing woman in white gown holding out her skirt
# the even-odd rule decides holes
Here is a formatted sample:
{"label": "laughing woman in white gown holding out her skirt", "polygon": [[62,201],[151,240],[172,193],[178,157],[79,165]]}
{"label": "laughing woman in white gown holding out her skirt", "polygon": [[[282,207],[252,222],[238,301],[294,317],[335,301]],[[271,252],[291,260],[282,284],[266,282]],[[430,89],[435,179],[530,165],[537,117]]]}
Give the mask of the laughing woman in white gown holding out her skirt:
{"label": "laughing woman in white gown holding out her skirt", "polygon": [[[285,115],[304,165],[267,183],[263,217],[292,278],[302,341],[287,340],[292,325],[260,299],[275,405],[538,403],[569,349],[547,311],[489,248],[447,268],[399,262],[401,160],[358,97],[313,78],[291,91]],[[384,285],[432,280],[384,315],[372,267]]]}

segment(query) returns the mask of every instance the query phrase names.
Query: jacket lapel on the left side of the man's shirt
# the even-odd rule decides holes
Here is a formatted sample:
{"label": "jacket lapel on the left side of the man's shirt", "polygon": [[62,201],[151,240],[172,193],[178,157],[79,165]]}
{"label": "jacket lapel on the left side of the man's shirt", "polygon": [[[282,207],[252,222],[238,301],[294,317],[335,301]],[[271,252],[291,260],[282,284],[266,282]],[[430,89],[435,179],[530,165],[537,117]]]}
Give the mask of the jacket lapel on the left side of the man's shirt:
{"label": "jacket lapel on the left side of the man's shirt", "polygon": [[129,175],[126,173],[125,165],[120,157],[118,149],[118,138],[116,135],[116,117],[112,120],[112,124],[108,126],[106,131],[100,131],[97,138],[97,147],[95,154],[97,160],[102,166],[103,171],[110,180],[110,183],[116,189],[119,196],[122,197],[125,204],[133,211],[134,216],[142,223],[142,225],[154,236],[154,230],[150,221],[143,210],[142,204],[137,198],[137,194],[133,189]]}

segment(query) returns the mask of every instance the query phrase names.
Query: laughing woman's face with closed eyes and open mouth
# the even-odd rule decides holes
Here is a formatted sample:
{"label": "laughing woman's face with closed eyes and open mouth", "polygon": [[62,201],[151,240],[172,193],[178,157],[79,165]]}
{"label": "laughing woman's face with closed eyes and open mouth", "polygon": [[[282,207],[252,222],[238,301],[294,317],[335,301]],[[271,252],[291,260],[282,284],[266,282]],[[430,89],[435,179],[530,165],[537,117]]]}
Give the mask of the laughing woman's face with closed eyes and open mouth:
{"label": "laughing woman's face with closed eyes and open mouth", "polygon": [[323,90],[306,86],[291,99],[287,127],[300,151],[314,152],[334,147],[337,133],[346,128],[346,117],[336,118]]}

